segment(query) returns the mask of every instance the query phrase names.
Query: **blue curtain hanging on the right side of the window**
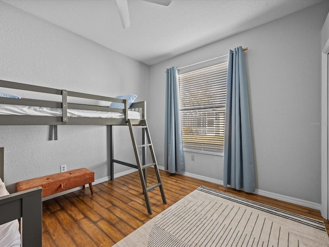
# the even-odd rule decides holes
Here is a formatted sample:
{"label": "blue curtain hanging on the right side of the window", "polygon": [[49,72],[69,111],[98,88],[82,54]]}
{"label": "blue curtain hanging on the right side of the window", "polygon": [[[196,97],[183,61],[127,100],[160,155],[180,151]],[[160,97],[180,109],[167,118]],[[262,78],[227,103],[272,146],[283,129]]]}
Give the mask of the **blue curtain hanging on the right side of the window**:
{"label": "blue curtain hanging on the right side of the window", "polygon": [[242,47],[229,50],[224,140],[224,186],[255,191],[247,80]]}

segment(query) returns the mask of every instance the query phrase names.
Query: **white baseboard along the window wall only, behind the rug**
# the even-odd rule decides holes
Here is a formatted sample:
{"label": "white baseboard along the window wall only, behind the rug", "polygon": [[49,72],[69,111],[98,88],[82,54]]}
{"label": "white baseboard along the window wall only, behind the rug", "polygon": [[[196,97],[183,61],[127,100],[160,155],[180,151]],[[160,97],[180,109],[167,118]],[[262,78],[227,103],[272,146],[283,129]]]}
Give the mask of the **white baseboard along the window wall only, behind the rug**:
{"label": "white baseboard along the window wall only, behind the rug", "polygon": [[[159,169],[164,170],[165,167],[159,167]],[[204,176],[189,173],[189,172],[182,173],[182,175],[185,175],[187,177],[191,177],[194,179],[211,182],[214,184],[223,185],[222,180],[212,179],[212,178],[204,177]],[[306,200],[302,200],[302,199],[298,199],[298,198],[294,198],[294,197],[288,197],[288,196],[280,195],[280,194],[273,193],[273,192],[268,192],[268,191],[261,190],[261,189],[256,189],[254,193],[257,195],[260,195],[260,196],[269,197],[269,198],[277,199],[277,200],[284,201],[284,202],[294,203],[294,204],[304,206],[304,207],[309,207],[309,208],[313,208],[313,209],[317,209],[317,210],[321,209],[321,204],[319,204],[319,203],[310,202],[310,201],[306,201]]]}

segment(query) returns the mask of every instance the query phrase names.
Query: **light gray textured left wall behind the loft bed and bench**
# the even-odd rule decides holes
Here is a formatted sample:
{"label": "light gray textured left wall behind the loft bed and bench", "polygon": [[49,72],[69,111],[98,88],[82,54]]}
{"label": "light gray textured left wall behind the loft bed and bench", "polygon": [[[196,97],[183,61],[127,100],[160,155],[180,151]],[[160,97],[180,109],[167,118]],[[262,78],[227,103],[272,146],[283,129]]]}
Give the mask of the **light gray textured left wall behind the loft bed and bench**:
{"label": "light gray textured left wall behind the loft bed and bench", "polygon": [[[0,79],[91,94],[134,93],[148,100],[149,66],[105,48],[38,17],[0,2]],[[120,127],[115,127],[120,128]],[[4,177],[10,192],[17,181],[86,167],[95,179],[109,175],[105,126],[0,126]],[[116,158],[131,162],[128,128],[115,132]],[[127,140],[127,142],[125,141]],[[131,156],[130,156],[131,155]],[[115,172],[130,169],[117,165]]]}

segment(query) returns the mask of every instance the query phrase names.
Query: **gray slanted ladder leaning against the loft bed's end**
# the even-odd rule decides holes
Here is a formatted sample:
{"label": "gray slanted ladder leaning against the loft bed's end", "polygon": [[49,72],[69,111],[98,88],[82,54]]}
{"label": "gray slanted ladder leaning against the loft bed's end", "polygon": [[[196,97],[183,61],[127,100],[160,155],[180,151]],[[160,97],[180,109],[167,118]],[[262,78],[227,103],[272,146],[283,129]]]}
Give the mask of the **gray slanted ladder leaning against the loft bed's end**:
{"label": "gray slanted ladder leaning against the loft bed's end", "polygon": [[[166,196],[165,196],[165,191],[163,190],[158,165],[157,165],[157,162],[156,162],[156,158],[155,158],[155,154],[154,154],[154,149],[153,149],[153,145],[152,145],[152,141],[151,141],[151,136],[150,136],[148,124],[147,124],[147,121],[145,119],[141,120],[141,122],[142,122],[141,125],[132,125],[130,119],[128,119],[130,135],[132,137],[132,142],[133,142],[133,147],[134,147],[134,152],[135,152],[135,157],[136,157],[136,162],[137,162],[137,169],[138,169],[140,181],[141,181],[141,184],[142,184],[143,194],[144,194],[144,197],[145,197],[145,203],[147,205],[149,214],[152,215],[152,209],[151,209],[151,204],[150,204],[150,199],[149,199],[148,192],[151,191],[152,189],[156,188],[156,187],[159,187],[160,192],[161,192],[162,202],[167,204],[167,200],[166,200]],[[136,144],[136,139],[135,139],[133,128],[141,128],[142,129],[142,145],[137,145]],[[147,141],[148,141],[147,143],[145,143],[145,134],[146,134]],[[142,162],[140,160],[140,155],[138,153],[138,148],[140,148],[140,147],[142,148]],[[152,163],[150,163],[150,164],[145,164],[145,156],[146,156],[145,155],[146,154],[145,148],[146,147],[150,148],[150,153],[151,153],[151,156],[152,156]],[[155,184],[148,187],[147,186],[147,168],[152,167],[152,166],[155,169],[157,183],[155,183]]]}

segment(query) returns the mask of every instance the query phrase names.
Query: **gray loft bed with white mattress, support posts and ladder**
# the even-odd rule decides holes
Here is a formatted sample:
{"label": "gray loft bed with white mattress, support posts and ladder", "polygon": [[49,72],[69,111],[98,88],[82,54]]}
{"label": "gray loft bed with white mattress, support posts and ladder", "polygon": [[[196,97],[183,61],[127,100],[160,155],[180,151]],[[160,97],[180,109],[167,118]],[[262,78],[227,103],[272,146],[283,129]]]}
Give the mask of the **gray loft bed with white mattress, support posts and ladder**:
{"label": "gray loft bed with white mattress, support posts and ladder", "polygon": [[[99,95],[72,92],[67,90],[53,89],[51,87],[37,86],[25,83],[0,80],[0,90],[18,90],[23,92],[34,92],[60,97],[61,100],[44,100],[38,98],[23,97],[0,97],[0,125],[49,125],[53,127],[54,138],[57,138],[58,125],[105,125],[109,131],[111,149],[109,169],[111,180],[114,179],[114,163],[138,169],[142,184],[142,192],[147,205],[148,213],[152,214],[148,191],[159,187],[163,203],[167,203],[163,191],[157,162],[151,142],[150,133],[145,119],[145,101],[130,102],[128,99],[105,97]],[[1,91],[0,91],[1,92]],[[33,93],[33,94],[34,94]],[[51,98],[51,97],[49,97]],[[78,100],[73,100],[78,99]],[[108,102],[107,105],[97,103],[81,103],[81,100],[93,100]],[[122,107],[118,107],[118,105]],[[113,126],[128,126],[132,137],[132,144],[136,157],[136,163],[130,164],[114,158]],[[141,127],[142,144],[137,145],[133,128]],[[138,147],[142,148],[142,157],[139,157]],[[150,147],[153,163],[145,164],[146,148]],[[158,183],[147,187],[146,168],[154,167]],[[24,191],[23,191],[24,192]],[[19,192],[18,195],[21,195]],[[38,198],[39,200],[39,198]],[[2,221],[3,222],[3,221]],[[0,222],[1,223],[1,222]],[[24,235],[23,235],[24,236]]]}

